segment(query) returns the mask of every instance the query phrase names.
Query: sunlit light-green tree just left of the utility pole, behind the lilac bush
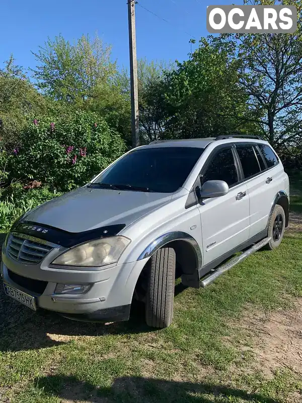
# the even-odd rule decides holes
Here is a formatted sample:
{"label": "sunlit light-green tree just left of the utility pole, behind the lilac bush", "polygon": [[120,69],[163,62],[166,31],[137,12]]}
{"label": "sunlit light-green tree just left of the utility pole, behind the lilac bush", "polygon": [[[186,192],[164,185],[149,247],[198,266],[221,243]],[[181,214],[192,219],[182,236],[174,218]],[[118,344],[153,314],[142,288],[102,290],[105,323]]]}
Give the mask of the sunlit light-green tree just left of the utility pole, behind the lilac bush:
{"label": "sunlit light-green tree just left of the utility pole, behind the lilac bush", "polygon": [[96,112],[130,142],[130,93],[124,91],[122,75],[110,59],[110,46],[84,35],[71,44],[60,35],[48,39],[34,54],[39,62],[33,71],[37,86],[59,102],[61,113],[64,109]]}

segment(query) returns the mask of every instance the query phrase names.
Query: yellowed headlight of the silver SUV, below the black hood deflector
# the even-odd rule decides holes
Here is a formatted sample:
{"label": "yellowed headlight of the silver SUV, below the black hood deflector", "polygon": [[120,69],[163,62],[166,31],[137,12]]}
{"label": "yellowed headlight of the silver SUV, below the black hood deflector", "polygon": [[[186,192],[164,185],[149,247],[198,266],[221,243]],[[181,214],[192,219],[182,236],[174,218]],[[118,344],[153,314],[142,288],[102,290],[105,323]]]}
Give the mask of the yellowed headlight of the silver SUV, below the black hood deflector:
{"label": "yellowed headlight of the silver SUV, below the black hood deflector", "polygon": [[56,257],[52,264],[100,267],[116,263],[130,242],[130,239],[123,236],[97,239],[67,250]]}

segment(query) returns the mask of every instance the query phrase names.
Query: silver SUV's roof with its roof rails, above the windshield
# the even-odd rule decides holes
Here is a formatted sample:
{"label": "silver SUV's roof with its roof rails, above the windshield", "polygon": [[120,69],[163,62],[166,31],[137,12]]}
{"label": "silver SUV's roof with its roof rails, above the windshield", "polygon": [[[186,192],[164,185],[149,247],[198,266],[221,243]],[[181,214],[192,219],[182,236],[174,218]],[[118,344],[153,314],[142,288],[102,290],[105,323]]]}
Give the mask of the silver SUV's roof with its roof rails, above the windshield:
{"label": "silver SUV's roof with its roof rails, above the windshield", "polygon": [[244,137],[226,137],[226,138],[204,138],[204,139],[182,139],[182,140],[158,140],[152,142],[146,146],[140,146],[138,149],[147,148],[163,148],[163,147],[192,147],[192,148],[206,148],[211,143],[219,144],[225,143],[262,143],[268,144],[265,140],[261,138],[244,138]]}

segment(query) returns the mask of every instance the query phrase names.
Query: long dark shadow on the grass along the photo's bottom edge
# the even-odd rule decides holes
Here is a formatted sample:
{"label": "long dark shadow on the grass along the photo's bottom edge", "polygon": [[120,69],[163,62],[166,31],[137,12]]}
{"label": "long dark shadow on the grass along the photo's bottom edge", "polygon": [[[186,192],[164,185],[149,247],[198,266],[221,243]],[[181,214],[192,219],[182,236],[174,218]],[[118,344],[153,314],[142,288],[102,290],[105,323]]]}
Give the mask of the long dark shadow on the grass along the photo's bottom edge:
{"label": "long dark shadow on the grass along the photo's bottom edge", "polygon": [[45,400],[47,397],[57,396],[66,402],[212,403],[213,401],[238,401],[240,399],[240,401],[246,402],[277,403],[276,400],[260,393],[248,393],[227,385],[130,376],[115,379],[109,387],[95,387],[90,383],[80,381],[77,377],[56,375],[36,379],[34,385],[38,391],[42,391]]}

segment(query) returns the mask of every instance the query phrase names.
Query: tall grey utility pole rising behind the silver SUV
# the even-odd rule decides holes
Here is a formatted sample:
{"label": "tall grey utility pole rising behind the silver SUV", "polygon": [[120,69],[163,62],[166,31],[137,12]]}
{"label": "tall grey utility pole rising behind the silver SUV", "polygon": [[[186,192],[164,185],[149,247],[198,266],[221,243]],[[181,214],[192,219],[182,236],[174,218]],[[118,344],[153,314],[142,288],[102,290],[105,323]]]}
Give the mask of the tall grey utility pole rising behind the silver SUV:
{"label": "tall grey utility pole rising behind the silver SUV", "polygon": [[132,146],[139,146],[135,0],[128,0]]}

